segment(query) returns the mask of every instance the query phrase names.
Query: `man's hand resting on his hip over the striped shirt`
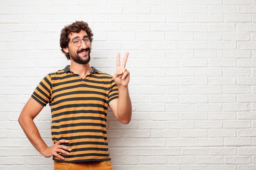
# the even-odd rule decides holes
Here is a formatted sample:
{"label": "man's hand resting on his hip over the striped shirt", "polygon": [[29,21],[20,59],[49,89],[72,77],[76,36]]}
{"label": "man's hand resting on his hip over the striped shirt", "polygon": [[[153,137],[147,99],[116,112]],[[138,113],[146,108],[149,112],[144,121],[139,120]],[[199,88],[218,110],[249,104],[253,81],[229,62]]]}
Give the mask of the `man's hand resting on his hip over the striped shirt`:
{"label": "man's hand resting on his hip over the striped shirt", "polygon": [[63,153],[65,155],[69,155],[70,153],[65,151],[65,150],[69,150],[71,151],[71,148],[67,147],[67,146],[64,146],[64,145],[61,145],[62,143],[68,143],[69,141],[68,140],[65,140],[65,139],[61,139],[59,141],[57,141],[55,144],[53,144],[52,146],[50,147],[46,147],[43,152],[42,152],[42,155],[44,157],[51,157],[51,156],[55,156],[59,159],[64,159],[64,157],[62,157],[61,155],[59,155],[58,153]]}

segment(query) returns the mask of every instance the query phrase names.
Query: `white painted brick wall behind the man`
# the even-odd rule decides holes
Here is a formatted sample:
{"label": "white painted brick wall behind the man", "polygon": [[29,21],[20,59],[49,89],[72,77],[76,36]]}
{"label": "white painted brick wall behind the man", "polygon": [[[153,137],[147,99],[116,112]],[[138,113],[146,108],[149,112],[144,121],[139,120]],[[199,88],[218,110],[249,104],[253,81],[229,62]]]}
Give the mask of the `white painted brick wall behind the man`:
{"label": "white painted brick wall behind the man", "polygon": [[[59,35],[76,20],[99,70],[130,52],[132,121],[108,117],[115,170],[255,170],[256,0],[0,0],[0,169],[52,170],[17,119],[69,64]],[[51,145],[49,106],[36,125]]]}

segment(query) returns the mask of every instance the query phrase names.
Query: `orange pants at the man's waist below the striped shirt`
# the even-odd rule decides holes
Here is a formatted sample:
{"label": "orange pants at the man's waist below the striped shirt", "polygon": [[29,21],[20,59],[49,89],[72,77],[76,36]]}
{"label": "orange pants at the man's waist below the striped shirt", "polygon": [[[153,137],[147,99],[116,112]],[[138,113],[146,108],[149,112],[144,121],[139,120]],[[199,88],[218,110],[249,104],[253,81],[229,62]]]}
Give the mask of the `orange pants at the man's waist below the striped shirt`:
{"label": "orange pants at the man's waist below the striped shirt", "polygon": [[54,161],[54,170],[113,170],[111,161],[64,163]]}

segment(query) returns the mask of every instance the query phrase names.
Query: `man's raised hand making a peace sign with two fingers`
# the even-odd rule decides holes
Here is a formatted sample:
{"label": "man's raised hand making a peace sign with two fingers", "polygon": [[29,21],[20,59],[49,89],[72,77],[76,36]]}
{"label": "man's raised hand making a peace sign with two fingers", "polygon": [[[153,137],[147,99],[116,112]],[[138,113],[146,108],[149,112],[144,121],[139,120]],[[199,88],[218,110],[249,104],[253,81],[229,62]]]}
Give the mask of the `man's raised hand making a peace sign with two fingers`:
{"label": "man's raised hand making a peace sign with two fingers", "polygon": [[127,52],[124,56],[124,60],[120,62],[120,53],[117,54],[117,70],[113,75],[113,79],[115,80],[117,86],[119,87],[127,87],[130,81],[130,72],[126,70],[125,65],[127,62],[129,53]]}

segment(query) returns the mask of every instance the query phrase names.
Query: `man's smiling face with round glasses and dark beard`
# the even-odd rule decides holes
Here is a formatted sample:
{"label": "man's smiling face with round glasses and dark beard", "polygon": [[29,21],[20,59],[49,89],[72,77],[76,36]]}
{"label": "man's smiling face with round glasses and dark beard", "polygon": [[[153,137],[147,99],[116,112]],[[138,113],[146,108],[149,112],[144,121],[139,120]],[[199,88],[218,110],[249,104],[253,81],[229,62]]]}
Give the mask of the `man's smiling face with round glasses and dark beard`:
{"label": "man's smiling face with round glasses and dark beard", "polygon": [[[63,49],[66,53],[69,53],[70,59],[78,64],[87,64],[90,62],[90,52],[91,52],[91,45],[85,44],[85,42],[81,39],[86,38],[87,33],[81,30],[79,33],[70,33],[68,38],[70,38],[70,42],[65,49]],[[72,41],[75,39],[81,40],[80,46],[75,46]]]}

